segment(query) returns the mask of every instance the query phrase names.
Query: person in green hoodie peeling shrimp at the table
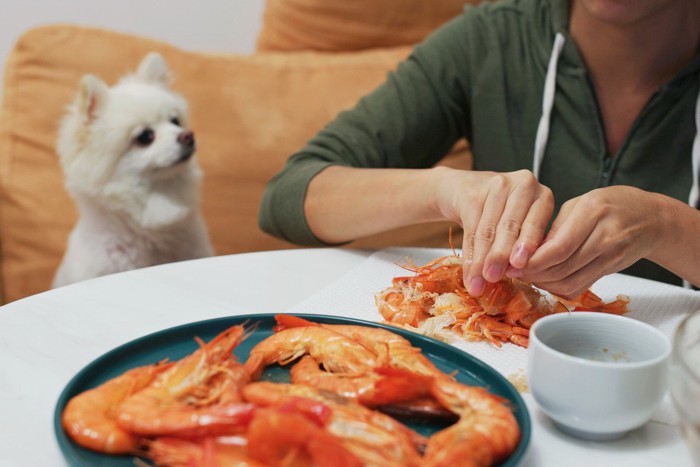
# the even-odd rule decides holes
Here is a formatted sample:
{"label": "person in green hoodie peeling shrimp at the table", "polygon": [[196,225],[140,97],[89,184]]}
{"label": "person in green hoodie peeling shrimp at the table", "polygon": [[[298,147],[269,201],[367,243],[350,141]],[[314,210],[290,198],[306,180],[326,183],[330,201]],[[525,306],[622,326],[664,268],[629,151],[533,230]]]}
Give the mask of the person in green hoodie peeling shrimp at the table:
{"label": "person in green hoodie peeling shrimp at the table", "polygon": [[[290,158],[260,224],[337,244],[456,221],[476,296],[504,275],[698,286],[699,44],[697,0],[467,8]],[[429,168],[462,137],[474,171]]]}

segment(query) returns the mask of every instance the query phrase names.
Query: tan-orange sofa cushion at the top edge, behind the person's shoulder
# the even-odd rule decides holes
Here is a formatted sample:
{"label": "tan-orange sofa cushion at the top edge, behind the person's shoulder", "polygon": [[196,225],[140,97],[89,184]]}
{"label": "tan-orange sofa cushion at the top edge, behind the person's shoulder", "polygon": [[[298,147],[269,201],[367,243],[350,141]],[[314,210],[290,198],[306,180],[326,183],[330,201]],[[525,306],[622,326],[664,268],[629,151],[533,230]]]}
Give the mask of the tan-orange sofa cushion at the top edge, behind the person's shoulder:
{"label": "tan-orange sofa cushion at the top edge, behind the person's shoulder", "polygon": [[413,45],[477,0],[267,0],[258,51]]}

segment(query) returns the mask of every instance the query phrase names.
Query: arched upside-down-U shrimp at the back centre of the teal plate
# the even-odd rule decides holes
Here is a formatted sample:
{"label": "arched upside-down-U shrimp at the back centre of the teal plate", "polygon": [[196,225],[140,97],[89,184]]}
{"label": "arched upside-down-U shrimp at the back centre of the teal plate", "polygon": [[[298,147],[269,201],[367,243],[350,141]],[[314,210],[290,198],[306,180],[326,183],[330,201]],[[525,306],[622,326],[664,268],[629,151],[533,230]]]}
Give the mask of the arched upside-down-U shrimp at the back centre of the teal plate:
{"label": "arched upside-down-U shrimp at the back centre of the teal plate", "polygon": [[377,356],[358,342],[322,327],[305,326],[283,329],[260,341],[245,367],[257,380],[268,365],[286,365],[307,354],[336,373],[357,375],[379,366]]}

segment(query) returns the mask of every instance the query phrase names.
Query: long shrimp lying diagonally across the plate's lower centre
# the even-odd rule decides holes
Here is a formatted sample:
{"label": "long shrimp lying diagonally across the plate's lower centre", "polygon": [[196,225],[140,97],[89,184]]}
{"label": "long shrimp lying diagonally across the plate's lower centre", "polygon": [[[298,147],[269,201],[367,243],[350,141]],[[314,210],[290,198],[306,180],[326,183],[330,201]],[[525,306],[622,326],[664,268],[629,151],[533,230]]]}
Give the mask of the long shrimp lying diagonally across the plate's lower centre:
{"label": "long shrimp lying diagonally across the plate's lower centre", "polygon": [[418,466],[417,446],[425,439],[388,415],[370,410],[338,394],[298,384],[257,382],[243,389],[246,400],[267,406],[291,398],[322,402],[331,410],[326,430],[367,466]]}

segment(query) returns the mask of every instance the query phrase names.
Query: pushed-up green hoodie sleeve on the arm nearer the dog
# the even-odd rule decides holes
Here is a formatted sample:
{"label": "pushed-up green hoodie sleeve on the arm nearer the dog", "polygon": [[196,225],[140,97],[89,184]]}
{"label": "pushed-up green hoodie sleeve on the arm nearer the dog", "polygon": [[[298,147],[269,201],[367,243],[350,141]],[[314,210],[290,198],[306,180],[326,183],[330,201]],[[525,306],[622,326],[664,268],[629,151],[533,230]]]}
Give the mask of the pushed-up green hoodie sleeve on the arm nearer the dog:
{"label": "pushed-up green hoodie sleeve on the arm nearer the dog", "polygon": [[[292,155],[271,179],[260,227],[290,242],[324,245],[311,232],[304,198],[311,179],[331,165],[427,168],[469,138],[469,89],[475,57],[471,7],[419,44],[386,81]],[[469,58],[469,59],[468,59]]]}

